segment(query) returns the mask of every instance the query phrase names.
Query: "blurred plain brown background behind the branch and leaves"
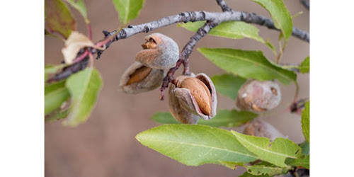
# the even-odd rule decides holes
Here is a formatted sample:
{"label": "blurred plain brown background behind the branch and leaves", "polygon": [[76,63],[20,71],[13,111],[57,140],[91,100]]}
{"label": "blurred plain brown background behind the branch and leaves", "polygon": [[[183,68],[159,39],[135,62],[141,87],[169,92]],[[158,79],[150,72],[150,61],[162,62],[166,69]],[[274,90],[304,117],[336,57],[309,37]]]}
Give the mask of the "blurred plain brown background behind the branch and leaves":
{"label": "blurred plain brown background behind the branch and leaves", "polygon": [[[103,38],[102,30],[112,31],[119,27],[118,15],[110,0],[85,0],[92,24],[93,41]],[[234,11],[256,12],[270,18],[265,9],[250,0],[232,1],[227,4]],[[300,1],[285,0],[292,15],[303,11],[293,19],[297,28],[309,31],[309,11]],[[84,21],[74,9],[77,28],[86,33]],[[131,24],[146,23],[170,16],[181,11],[221,11],[215,0],[147,0],[138,18]],[[257,26],[261,37],[278,46],[278,31]],[[180,49],[193,33],[170,25],[154,30],[176,40]],[[139,132],[158,124],[150,120],[158,111],[168,111],[167,101],[159,101],[158,89],[138,95],[127,95],[118,91],[120,76],[134,62],[134,57],[142,50],[146,33],[134,35],[128,39],[113,43],[95,67],[101,72],[103,89],[98,97],[96,108],[89,120],[79,127],[63,127],[61,122],[45,124],[45,176],[238,176],[243,169],[233,171],[223,166],[205,164],[198,167],[185,166],[169,159],[152,149],[142,146],[135,139]],[[45,37],[45,64],[59,64],[62,61],[63,42]],[[197,47],[233,47],[244,50],[263,50],[269,59],[274,56],[264,45],[249,39],[229,40],[207,36],[198,42]],[[282,58],[282,63],[300,63],[309,56],[309,43],[290,38]],[[198,51],[190,55],[190,69],[195,73],[205,72],[212,76],[223,71],[202,57]],[[180,69],[181,70],[181,69]],[[178,72],[178,74],[181,71]],[[309,74],[298,74],[300,86],[299,98],[309,96]],[[262,117],[273,124],[280,132],[294,142],[302,142],[301,117],[286,113],[295,93],[295,85],[281,86],[282,103],[270,115]],[[218,96],[218,108],[232,109],[234,101]]]}

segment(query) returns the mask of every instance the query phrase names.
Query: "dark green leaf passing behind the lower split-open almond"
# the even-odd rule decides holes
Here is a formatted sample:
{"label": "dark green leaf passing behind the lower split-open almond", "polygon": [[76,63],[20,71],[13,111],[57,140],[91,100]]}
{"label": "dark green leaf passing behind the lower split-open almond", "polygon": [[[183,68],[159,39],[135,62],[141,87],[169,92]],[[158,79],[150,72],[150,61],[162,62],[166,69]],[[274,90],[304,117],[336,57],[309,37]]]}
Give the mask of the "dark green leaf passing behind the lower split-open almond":
{"label": "dark green leaf passing behind the lower split-open almond", "polygon": [[[199,125],[210,125],[212,127],[238,127],[246,122],[249,122],[257,117],[257,114],[249,111],[237,111],[237,110],[218,110],[215,118],[211,120],[198,121]],[[152,116],[152,120],[163,124],[180,124],[173,118],[171,113],[156,113]]]}

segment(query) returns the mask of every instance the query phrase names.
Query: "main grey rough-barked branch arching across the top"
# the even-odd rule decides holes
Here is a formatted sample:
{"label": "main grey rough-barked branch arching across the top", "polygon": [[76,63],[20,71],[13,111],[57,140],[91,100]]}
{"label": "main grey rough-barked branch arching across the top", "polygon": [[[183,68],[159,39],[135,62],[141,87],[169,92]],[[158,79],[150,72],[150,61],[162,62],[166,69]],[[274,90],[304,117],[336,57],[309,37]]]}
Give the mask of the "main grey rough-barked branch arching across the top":
{"label": "main grey rough-barked branch arching across the top", "polygon": [[[181,22],[187,23],[187,22],[195,22],[195,21],[212,21],[212,22],[221,23],[224,21],[244,21],[246,23],[263,25],[272,30],[279,30],[275,28],[275,25],[270,18],[258,16],[256,13],[232,11],[230,8],[227,7],[227,4],[224,3],[224,1],[217,0],[217,3],[219,4],[219,6],[222,7],[223,12],[208,12],[208,11],[182,12],[174,16],[167,16],[159,20],[151,21],[148,23],[142,23],[139,25],[128,25],[127,28],[122,28],[122,30],[119,30],[119,32],[118,30],[115,30],[113,32],[108,32],[104,30],[103,33],[105,35],[105,39],[97,42],[96,44],[99,43],[99,45],[101,46],[98,47],[105,46],[105,49],[107,49],[110,46],[110,44],[112,44],[112,42],[129,38],[130,36],[136,35],[137,33],[148,33],[149,31],[156,30],[158,28],[163,28],[165,26],[172,25],[174,23],[181,23]],[[299,38],[300,40],[309,42],[309,33],[307,33],[307,31],[300,30],[298,28],[292,28],[292,35],[295,36],[296,38]],[[107,40],[108,38],[111,38],[111,40]],[[100,58],[103,53],[103,50],[97,51],[92,48],[89,50],[92,54],[97,53],[97,57],[96,57],[97,59]],[[79,62],[75,64],[66,67],[65,71],[63,70],[61,73],[55,75],[55,79],[53,81],[66,79],[71,74],[74,74],[75,72],[79,72],[80,70],[84,69],[83,66],[87,65],[86,62],[87,60],[85,58],[85,59],[81,59]]]}

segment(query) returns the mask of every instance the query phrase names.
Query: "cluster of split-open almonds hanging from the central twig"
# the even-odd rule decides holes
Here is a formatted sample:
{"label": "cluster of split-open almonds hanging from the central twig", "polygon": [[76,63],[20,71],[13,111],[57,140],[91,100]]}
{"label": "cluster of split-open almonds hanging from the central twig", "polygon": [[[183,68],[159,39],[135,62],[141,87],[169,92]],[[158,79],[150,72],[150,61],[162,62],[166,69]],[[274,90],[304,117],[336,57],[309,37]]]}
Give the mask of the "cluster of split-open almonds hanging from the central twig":
{"label": "cluster of split-open almonds hanging from the central twig", "polygon": [[[161,86],[164,69],[176,66],[179,57],[178,45],[160,33],[145,37],[143,50],[122,75],[120,90],[125,93],[142,93]],[[206,74],[178,76],[170,84],[169,108],[176,120],[196,124],[199,118],[209,120],[216,115],[217,96],[215,86]]]}

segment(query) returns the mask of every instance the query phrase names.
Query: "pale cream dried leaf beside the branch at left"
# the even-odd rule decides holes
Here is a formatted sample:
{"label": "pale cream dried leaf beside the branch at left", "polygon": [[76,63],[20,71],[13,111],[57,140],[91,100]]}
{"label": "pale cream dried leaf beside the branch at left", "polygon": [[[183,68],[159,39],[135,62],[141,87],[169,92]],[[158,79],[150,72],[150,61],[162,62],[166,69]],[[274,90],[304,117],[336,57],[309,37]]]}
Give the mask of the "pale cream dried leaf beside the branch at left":
{"label": "pale cream dried leaf beside the branch at left", "polygon": [[102,47],[97,47],[93,42],[77,31],[73,31],[69,38],[65,41],[62,48],[64,61],[67,64],[72,64],[76,58],[77,53],[84,47],[93,47],[98,50],[104,50]]}

